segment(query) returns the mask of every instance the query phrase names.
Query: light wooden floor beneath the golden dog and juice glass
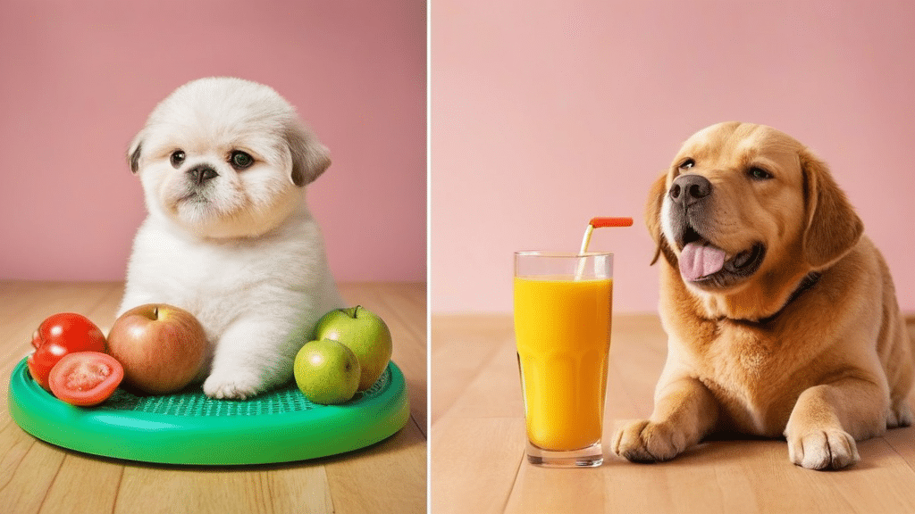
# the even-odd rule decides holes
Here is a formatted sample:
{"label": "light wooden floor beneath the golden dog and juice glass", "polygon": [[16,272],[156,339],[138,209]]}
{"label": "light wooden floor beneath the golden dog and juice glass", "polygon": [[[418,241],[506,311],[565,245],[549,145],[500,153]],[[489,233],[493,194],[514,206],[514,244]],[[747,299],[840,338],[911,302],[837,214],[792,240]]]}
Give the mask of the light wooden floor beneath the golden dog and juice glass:
{"label": "light wooden floor beneath the golden dog and juice glass", "polygon": [[655,316],[614,318],[604,465],[547,469],[524,458],[509,316],[432,316],[431,512],[549,514],[915,512],[915,428],[858,445],[837,472],[793,466],[783,440],[713,441],[639,465],[608,452],[621,420],[651,413],[665,357]]}

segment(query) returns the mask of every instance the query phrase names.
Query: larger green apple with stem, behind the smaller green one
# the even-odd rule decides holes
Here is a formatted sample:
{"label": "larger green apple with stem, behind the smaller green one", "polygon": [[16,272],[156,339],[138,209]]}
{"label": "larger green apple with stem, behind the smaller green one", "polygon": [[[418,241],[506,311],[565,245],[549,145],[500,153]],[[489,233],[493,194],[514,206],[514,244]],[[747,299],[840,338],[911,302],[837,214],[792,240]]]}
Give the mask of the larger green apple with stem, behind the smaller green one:
{"label": "larger green apple with stem, behind the smaller green one", "polygon": [[378,381],[391,360],[391,330],[381,317],[361,305],[334,309],[321,316],[315,338],[339,341],[356,354],[362,367],[359,391]]}

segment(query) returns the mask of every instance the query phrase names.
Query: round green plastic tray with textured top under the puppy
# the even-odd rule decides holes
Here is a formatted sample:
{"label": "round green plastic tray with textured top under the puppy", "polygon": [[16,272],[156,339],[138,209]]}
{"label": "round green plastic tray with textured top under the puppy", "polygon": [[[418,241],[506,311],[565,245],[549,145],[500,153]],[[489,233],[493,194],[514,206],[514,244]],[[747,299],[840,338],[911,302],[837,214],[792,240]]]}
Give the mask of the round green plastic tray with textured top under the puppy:
{"label": "round green plastic tray with textured top under the puppy", "polygon": [[377,443],[409,418],[404,374],[394,363],[368,391],[341,405],[308,402],[287,386],[242,402],[213,400],[200,386],[164,396],[119,388],[96,407],[75,407],[41,389],[22,359],[9,410],[27,433],[87,454],[180,465],[246,465],[337,455]]}

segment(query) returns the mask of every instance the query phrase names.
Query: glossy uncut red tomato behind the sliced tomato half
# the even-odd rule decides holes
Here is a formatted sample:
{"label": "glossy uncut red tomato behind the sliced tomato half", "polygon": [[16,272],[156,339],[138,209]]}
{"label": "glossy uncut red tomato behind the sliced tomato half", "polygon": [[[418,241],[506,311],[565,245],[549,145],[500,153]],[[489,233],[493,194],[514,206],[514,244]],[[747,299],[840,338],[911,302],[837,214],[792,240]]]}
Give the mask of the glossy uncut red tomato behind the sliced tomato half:
{"label": "glossy uncut red tomato behind the sliced tomato half", "polygon": [[28,356],[28,372],[48,389],[51,368],[74,351],[105,351],[105,336],[86,316],[61,313],[48,316],[32,335],[35,352]]}

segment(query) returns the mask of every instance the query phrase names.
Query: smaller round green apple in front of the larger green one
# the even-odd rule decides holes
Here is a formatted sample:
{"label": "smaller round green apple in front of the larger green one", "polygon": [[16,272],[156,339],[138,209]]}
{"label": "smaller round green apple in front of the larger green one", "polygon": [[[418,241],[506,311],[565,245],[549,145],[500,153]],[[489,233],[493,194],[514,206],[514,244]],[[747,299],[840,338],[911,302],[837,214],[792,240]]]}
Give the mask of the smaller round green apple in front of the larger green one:
{"label": "smaller round green apple in front of the larger green one", "polygon": [[359,387],[359,359],[332,339],[308,341],[296,354],[296,385],[308,400],[324,405],[349,402]]}

